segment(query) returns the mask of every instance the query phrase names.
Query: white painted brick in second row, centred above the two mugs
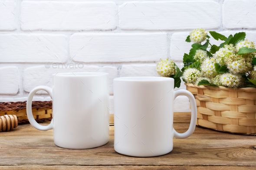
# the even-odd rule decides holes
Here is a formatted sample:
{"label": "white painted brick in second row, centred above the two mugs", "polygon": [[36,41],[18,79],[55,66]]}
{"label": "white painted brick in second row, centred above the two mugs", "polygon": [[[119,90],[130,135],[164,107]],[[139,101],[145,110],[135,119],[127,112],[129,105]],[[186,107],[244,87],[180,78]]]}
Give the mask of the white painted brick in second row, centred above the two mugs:
{"label": "white painted brick in second row, centred above the two mugs", "polygon": [[[167,58],[166,33],[76,33],[70,39],[73,61],[157,61]],[[170,40],[168,40],[170,41]]]}

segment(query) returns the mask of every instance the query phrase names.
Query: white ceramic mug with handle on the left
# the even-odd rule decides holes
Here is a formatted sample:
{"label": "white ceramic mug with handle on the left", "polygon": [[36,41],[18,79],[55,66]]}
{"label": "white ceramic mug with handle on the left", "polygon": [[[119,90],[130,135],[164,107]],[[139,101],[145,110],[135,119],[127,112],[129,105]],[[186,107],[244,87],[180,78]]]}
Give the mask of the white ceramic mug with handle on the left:
{"label": "white ceramic mug with handle on the left", "polygon": [[[53,120],[39,125],[32,114],[34,94],[45,90],[53,99]],[[62,148],[87,149],[108,143],[108,73],[53,74],[53,88],[38,86],[27,99],[27,116],[38,130],[53,129],[54,143]]]}

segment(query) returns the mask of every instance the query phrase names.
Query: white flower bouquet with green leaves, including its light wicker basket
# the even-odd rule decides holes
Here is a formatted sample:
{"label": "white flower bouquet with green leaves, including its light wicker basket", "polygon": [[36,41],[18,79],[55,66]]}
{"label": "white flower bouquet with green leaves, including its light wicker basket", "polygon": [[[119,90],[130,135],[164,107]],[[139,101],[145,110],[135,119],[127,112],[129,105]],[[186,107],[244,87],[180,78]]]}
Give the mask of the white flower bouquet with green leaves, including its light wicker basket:
{"label": "white flower bouquet with green leaves, including its light wicker basket", "polygon": [[[211,38],[222,43],[212,45]],[[160,76],[174,78],[175,87],[180,87],[182,78],[187,90],[194,94],[197,125],[255,134],[256,49],[254,42],[245,38],[245,32],[226,37],[214,31],[194,29],[185,40],[194,44],[184,54],[181,70],[168,59],[157,63]]]}

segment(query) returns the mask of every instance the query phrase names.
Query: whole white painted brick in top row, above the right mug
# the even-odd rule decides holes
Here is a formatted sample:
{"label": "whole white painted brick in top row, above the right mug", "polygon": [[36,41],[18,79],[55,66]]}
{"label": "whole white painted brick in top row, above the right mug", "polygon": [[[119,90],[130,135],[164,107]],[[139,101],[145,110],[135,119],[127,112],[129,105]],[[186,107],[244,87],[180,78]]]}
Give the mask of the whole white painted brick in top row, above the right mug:
{"label": "whole white painted brick in top row, above the right mug", "polygon": [[[119,9],[121,29],[213,29],[220,26],[220,5],[205,1],[129,2]],[[160,32],[159,30],[159,32]]]}

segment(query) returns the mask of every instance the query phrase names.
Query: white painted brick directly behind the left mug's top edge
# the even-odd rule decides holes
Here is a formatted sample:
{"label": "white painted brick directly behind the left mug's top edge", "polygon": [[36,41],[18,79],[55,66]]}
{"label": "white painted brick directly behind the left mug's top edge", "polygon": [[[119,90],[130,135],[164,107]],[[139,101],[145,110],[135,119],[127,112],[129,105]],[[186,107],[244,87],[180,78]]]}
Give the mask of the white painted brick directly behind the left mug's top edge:
{"label": "white painted brick directly behind the left mug's top edge", "polygon": [[[54,68],[53,68],[54,67]],[[113,94],[113,79],[118,77],[117,68],[113,66],[83,66],[82,68],[62,68],[56,67],[51,64],[50,67],[36,66],[28,67],[23,72],[23,89],[25,92],[30,92],[34,87],[44,85],[52,87],[52,74],[58,74],[63,72],[106,72],[109,74],[109,93]],[[39,94],[46,94],[42,90]]]}

